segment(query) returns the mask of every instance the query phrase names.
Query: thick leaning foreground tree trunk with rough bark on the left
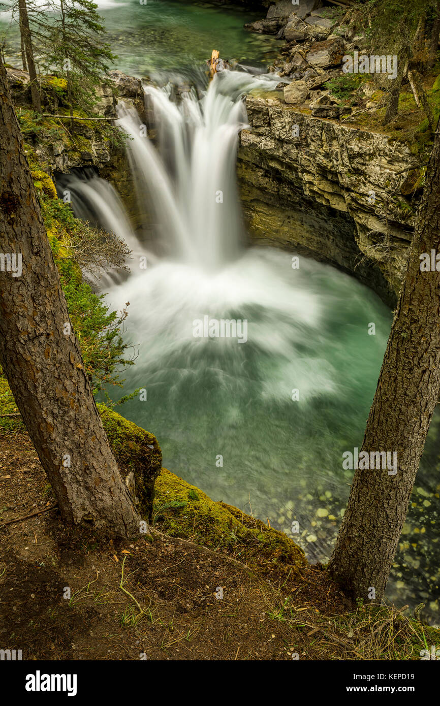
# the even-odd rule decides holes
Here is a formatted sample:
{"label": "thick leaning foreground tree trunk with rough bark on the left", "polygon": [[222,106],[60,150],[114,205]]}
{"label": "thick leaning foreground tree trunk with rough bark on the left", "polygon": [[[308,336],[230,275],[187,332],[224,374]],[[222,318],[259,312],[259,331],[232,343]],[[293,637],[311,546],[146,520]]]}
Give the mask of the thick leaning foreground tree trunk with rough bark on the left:
{"label": "thick leaning foreground tree trunk with rough bark on the left", "polygon": [[[119,474],[69,333],[69,313],[0,63],[0,364],[67,522],[136,536]],[[16,272],[5,257],[16,253]],[[22,273],[20,274],[20,263]],[[6,263],[6,264],[5,264]]]}

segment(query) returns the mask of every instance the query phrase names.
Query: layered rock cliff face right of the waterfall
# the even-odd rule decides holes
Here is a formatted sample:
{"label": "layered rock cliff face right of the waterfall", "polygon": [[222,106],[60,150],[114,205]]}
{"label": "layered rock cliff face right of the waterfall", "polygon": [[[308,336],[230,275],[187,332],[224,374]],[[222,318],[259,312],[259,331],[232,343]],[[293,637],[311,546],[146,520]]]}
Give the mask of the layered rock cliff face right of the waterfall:
{"label": "layered rock cliff face right of the waterfall", "polygon": [[420,162],[386,135],[246,98],[238,176],[251,237],[326,261],[393,305],[415,226],[400,198]]}

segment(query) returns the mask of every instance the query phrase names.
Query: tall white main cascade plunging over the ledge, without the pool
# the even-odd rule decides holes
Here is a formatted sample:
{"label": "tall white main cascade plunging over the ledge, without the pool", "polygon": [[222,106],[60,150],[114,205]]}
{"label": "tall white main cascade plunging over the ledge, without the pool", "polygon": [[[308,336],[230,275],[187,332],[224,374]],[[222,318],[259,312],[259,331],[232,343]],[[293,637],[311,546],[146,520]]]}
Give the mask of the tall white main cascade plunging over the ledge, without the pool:
{"label": "tall white main cascade plunging over the ledge, without the pool", "polygon": [[119,124],[131,138],[127,145],[140,208],[153,211],[158,237],[173,258],[215,268],[237,257],[243,232],[235,156],[246,124],[240,98],[277,81],[225,71],[201,100],[193,88],[179,103],[170,100],[171,85],[144,87],[146,105],[155,114],[157,149],[136,110],[119,106]]}

